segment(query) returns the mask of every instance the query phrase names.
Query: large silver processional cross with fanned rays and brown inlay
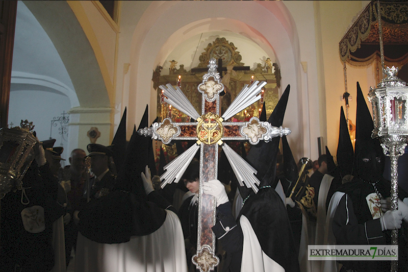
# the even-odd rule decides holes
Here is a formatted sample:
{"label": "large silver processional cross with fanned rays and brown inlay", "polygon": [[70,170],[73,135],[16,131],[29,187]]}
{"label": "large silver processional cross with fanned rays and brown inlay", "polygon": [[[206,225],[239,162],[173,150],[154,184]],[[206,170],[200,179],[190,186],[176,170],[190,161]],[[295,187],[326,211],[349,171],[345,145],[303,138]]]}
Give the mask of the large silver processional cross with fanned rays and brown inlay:
{"label": "large silver processional cross with fanned rays and brown inlay", "polygon": [[140,135],[161,140],[165,144],[171,140],[196,140],[196,144],[164,167],[166,172],[160,177],[160,180],[162,188],[168,183],[179,182],[187,166],[200,149],[197,253],[193,256],[192,261],[201,272],[213,270],[219,263],[218,257],[215,256],[215,236],[211,230],[216,222],[217,206],[213,196],[202,192],[204,182],[217,179],[218,146],[222,146],[240,185],[245,184],[254,192],[258,192],[260,181],[255,176],[257,170],[223,141],[248,140],[251,144],[258,144],[260,140],[268,142],[274,137],[289,135],[291,132],[288,128],[273,127],[269,122],[260,121],[257,117],[252,117],[247,122],[224,121],[258,101],[261,98],[259,95],[261,88],[266,82],[256,81],[250,86],[244,86],[230,107],[220,116],[219,93],[222,92],[224,86],[217,72],[215,59],[209,61],[208,68],[208,73],[202,77],[202,83],[197,87],[202,94],[201,115],[197,113],[179,87],[174,88],[171,84],[160,86],[164,91],[164,101],[196,122],[173,122],[170,118],[166,118],[161,123],[156,122],[150,128],[138,131]]}

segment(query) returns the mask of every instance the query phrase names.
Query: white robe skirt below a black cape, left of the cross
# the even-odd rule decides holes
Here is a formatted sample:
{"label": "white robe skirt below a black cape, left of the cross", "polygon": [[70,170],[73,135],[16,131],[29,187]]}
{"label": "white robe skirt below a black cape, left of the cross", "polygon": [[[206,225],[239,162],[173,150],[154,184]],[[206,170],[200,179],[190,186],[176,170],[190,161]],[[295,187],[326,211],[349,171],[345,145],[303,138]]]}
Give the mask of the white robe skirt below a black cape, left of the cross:
{"label": "white robe skirt below a black cape, left of the cross", "polygon": [[166,210],[154,233],[133,236],[129,242],[97,243],[78,234],[76,272],[187,272],[184,237],[179,217]]}

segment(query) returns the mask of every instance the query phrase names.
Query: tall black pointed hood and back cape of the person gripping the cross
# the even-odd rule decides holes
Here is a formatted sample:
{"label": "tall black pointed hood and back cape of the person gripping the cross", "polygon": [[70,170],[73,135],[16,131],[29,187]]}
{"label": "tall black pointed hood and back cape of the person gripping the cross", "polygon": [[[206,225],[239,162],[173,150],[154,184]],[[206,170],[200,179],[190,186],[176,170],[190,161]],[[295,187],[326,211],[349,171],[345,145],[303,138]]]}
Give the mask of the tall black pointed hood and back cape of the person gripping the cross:
{"label": "tall black pointed hood and back cape of the person gripping the cross", "polygon": [[[274,111],[268,119],[272,126],[282,126],[290,86],[286,88]],[[261,181],[257,194],[251,193],[245,199],[240,215],[248,218],[257,235],[262,251],[286,271],[299,271],[298,254],[294,251],[295,243],[285,204],[274,188],[271,188],[276,174],[276,157],[281,139],[273,138],[270,142],[253,145],[247,155],[247,161],[258,170]],[[279,229],[279,231],[276,231]]]}

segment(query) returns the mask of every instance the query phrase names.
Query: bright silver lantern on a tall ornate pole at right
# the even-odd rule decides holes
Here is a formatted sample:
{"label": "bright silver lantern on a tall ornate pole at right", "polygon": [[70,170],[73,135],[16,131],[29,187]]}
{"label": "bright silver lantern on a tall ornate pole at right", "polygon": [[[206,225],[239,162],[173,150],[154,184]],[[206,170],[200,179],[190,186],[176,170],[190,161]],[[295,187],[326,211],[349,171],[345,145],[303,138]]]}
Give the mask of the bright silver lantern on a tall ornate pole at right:
{"label": "bright silver lantern on a tall ornate pole at right", "polygon": [[[377,88],[370,87],[368,100],[373,110],[374,130],[372,138],[379,138],[382,150],[391,160],[391,209],[398,209],[398,157],[404,154],[408,138],[408,87],[395,75],[398,68],[384,69],[386,78]],[[398,243],[398,230],[392,231],[392,244]],[[394,269],[397,262],[393,261]],[[391,270],[394,270],[393,267]]]}

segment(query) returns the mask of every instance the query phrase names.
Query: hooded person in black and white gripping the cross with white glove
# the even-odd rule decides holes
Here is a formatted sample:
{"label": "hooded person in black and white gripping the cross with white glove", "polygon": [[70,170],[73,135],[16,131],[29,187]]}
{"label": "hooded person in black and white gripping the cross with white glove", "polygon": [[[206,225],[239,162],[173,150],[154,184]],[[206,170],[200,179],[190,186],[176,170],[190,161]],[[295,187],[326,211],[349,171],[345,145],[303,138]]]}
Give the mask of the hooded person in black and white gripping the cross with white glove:
{"label": "hooded person in black and white gripping the cross with white glove", "polygon": [[[283,93],[268,122],[281,126],[289,96]],[[217,201],[217,224],[212,228],[226,258],[222,271],[299,271],[289,218],[279,195],[271,188],[276,171],[279,138],[252,146],[248,162],[260,170],[257,194],[240,187],[245,199],[237,221],[231,212],[224,186],[218,180],[203,184],[203,191]]]}

